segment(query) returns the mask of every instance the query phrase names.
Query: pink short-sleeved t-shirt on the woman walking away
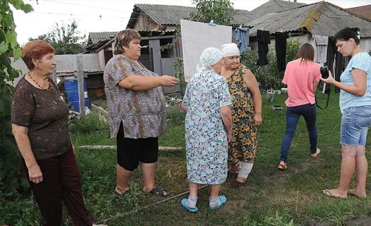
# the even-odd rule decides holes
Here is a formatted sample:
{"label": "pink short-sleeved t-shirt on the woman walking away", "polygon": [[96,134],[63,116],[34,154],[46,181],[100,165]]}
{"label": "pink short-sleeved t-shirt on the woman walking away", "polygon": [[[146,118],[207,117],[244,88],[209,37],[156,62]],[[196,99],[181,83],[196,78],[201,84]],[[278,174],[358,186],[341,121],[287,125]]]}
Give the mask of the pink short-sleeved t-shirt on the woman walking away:
{"label": "pink short-sleeved t-shirt on the woman walking away", "polygon": [[313,83],[318,81],[319,65],[313,61],[300,63],[300,59],[288,62],[283,77],[283,83],[288,85],[286,106],[295,107],[315,103]]}

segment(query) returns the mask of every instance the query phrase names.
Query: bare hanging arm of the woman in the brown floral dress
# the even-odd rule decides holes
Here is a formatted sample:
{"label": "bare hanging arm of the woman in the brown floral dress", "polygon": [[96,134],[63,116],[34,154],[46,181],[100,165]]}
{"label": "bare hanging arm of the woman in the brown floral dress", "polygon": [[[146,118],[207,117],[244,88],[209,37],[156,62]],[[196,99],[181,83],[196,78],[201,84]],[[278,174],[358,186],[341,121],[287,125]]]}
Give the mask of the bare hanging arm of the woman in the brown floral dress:
{"label": "bare hanging arm of the woman in the brown floral dress", "polygon": [[247,84],[247,88],[249,88],[250,93],[252,93],[252,99],[254,100],[254,121],[255,126],[260,126],[263,122],[263,118],[261,117],[261,94],[259,90],[259,85],[257,82],[257,78],[255,78],[254,74],[247,70],[245,75],[243,76],[245,83]]}

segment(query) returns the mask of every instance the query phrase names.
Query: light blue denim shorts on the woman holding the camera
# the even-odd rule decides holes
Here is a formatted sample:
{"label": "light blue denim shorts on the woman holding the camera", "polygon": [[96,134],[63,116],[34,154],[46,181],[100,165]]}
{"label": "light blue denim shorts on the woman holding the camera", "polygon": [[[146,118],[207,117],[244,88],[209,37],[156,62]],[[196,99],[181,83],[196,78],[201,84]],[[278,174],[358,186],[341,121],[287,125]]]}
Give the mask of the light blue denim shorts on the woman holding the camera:
{"label": "light blue denim shorts on the woman holding the camera", "polygon": [[340,143],[366,145],[367,131],[371,126],[371,105],[348,107],[341,117]]}

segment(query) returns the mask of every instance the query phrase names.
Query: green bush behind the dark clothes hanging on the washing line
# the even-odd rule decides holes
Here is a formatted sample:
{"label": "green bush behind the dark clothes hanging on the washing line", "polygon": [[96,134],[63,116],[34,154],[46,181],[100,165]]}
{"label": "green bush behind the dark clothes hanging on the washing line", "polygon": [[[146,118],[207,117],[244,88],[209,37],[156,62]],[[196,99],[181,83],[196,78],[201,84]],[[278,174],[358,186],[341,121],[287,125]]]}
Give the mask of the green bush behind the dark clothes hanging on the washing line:
{"label": "green bush behind the dark clothes hanging on the washing line", "polygon": [[[289,38],[287,40],[286,48],[286,62],[292,61],[299,51],[299,41],[297,39]],[[282,79],[284,71],[277,69],[277,57],[273,44],[269,45],[269,52],[267,54],[269,64],[266,66],[259,66],[256,64],[258,59],[257,52],[247,50],[241,56],[241,63],[246,65],[252,73],[257,77],[262,85],[267,89],[278,89],[282,87]]]}

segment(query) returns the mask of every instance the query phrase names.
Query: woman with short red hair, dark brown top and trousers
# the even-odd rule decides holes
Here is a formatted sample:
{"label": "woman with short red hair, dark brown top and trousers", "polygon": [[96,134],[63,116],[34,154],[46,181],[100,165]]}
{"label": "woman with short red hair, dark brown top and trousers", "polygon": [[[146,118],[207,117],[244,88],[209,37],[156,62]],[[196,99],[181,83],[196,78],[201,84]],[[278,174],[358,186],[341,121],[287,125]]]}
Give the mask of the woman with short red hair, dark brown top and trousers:
{"label": "woman with short red hair, dark brown top and trousers", "polygon": [[61,225],[63,201],[74,225],[91,226],[67,125],[69,109],[49,78],[56,65],[54,49],[33,40],[25,44],[23,55],[30,71],[16,86],[11,121],[42,225]]}

